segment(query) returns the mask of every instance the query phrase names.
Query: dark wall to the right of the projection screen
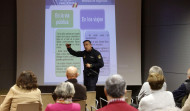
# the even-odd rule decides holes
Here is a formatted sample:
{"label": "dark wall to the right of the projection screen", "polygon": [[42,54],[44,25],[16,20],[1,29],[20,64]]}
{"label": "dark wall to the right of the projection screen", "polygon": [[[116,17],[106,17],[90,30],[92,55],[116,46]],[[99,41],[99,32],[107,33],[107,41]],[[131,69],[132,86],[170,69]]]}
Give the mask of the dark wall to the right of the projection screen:
{"label": "dark wall to the right of the projection screen", "polygon": [[190,1],[143,0],[142,73],[151,66],[163,68],[168,90],[185,79],[190,67]]}

